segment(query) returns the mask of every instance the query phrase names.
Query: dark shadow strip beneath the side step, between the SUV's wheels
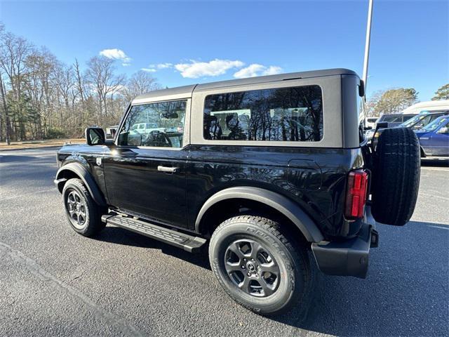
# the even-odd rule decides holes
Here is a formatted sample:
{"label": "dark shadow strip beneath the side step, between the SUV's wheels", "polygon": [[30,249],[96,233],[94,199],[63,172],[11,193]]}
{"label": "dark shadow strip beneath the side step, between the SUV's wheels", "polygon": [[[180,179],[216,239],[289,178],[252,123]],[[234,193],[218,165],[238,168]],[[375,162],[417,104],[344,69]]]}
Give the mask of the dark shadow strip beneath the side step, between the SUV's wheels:
{"label": "dark shadow strip beneath the side step, between the SUV's wheels", "polygon": [[104,230],[93,239],[97,239],[103,242],[110,242],[112,244],[123,244],[126,246],[135,246],[148,249],[159,249],[162,253],[173,256],[174,258],[180,258],[188,263],[194,263],[199,267],[210,270],[210,264],[208,260],[207,247],[204,247],[199,253],[187,253],[186,251],[170,246],[163,242],[145,237],[144,235],[130,232],[120,227],[114,227],[107,225]]}

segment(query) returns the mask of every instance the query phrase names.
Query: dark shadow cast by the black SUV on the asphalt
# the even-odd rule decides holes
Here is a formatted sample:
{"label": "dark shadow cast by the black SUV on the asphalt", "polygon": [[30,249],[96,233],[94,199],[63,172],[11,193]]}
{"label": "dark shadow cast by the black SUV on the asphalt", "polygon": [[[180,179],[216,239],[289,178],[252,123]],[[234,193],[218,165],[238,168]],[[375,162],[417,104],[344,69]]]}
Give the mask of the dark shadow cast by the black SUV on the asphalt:
{"label": "dark shadow cast by the black SUV on the asphalt", "polygon": [[[313,286],[305,305],[267,319],[336,336],[447,336],[447,326],[432,322],[436,317],[445,322],[441,317],[449,315],[449,225],[410,221],[405,227],[382,225],[377,229],[383,241],[370,253],[367,279],[323,275],[309,254]],[[398,246],[406,236],[410,236],[404,238],[408,244]],[[206,249],[186,253],[113,226],[107,226],[95,239],[160,249],[210,270]]]}

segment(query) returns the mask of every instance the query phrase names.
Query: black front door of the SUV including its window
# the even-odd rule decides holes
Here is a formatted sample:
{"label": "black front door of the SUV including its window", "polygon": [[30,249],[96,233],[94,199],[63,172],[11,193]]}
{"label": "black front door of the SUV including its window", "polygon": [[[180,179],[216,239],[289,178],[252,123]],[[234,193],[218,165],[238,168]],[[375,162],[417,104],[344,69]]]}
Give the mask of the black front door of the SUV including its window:
{"label": "black front door of the SUV including its window", "polygon": [[186,227],[182,147],[187,100],[134,105],[105,157],[109,204],[158,223]]}

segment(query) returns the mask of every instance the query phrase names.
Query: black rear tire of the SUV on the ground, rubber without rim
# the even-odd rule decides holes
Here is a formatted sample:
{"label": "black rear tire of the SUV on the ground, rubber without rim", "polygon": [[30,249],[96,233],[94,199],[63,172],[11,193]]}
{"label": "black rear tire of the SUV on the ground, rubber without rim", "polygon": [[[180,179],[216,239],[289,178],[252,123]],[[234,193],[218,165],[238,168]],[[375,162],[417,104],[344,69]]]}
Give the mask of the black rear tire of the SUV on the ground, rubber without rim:
{"label": "black rear tire of the SUV on the ground, rubber without rim", "polygon": [[[265,247],[279,266],[279,284],[266,297],[244,292],[228,275],[225,252],[229,244],[240,239],[254,240]],[[279,223],[260,216],[236,216],[225,220],[213,232],[209,245],[210,266],[227,294],[243,307],[260,315],[279,315],[292,305],[304,303],[310,286],[311,271],[307,251],[283,234]],[[262,273],[260,274],[262,276]]]}

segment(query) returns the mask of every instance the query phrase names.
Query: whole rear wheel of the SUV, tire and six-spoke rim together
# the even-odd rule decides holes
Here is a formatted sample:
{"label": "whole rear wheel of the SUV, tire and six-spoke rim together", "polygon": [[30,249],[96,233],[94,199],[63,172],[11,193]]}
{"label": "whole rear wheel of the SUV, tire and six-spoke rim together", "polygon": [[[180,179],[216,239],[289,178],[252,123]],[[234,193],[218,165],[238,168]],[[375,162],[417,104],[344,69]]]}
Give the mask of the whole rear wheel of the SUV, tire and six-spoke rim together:
{"label": "whole rear wheel of the SUV, tire and six-spoke rim together", "polygon": [[267,218],[225,220],[210,239],[209,259],[228,295],[261,315],[300,303],[310,283],[307,253]]}

